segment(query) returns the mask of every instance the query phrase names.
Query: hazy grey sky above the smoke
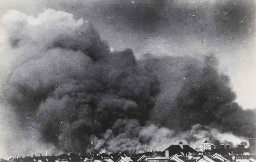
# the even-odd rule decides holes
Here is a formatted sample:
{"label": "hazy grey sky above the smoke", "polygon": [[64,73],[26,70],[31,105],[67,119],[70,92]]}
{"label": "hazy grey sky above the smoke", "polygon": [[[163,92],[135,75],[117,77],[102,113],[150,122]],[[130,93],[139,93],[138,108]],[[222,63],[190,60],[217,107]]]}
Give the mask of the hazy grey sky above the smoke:
{"label": "hazy grey sky above the smoke", "polygon": [[[231,77],[237,102],[256,107],[254,0],[1,0],[0,16],[19,10],[37,17],[45,9],[66,11],[93,23],[114,50],[137,58],[212,53]],[[203,41],[203,43],[202,43]]]}

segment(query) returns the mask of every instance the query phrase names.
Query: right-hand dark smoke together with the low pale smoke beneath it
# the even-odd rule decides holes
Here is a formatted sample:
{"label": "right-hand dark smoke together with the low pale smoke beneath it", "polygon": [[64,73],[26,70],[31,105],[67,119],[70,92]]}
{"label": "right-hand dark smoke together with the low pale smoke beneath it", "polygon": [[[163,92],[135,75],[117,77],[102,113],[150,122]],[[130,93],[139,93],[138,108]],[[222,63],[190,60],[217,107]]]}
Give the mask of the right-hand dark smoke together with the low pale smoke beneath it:
{"label": "right-hand dark smoke together with the low pale smoke beneath it", "polygon": [[206,139],[217,148],[222,142],[233,147],[247,142],[246,134],[255,128],[255,110],[243,110],[234,102],[229,77],[218,72],[214,55],[198,59],[147,54],[140,63],[157,76],[161,93],[147,125],[125,122],[110,139],[108,151],[163,151],[179,141],[196,148]]}

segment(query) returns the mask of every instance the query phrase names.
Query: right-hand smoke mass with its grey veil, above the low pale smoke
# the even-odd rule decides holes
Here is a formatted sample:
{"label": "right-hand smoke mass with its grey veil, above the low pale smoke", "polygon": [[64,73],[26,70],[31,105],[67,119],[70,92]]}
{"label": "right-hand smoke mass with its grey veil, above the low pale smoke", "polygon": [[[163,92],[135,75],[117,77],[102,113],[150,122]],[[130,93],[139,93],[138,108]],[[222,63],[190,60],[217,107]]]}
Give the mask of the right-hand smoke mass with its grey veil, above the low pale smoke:
{"label": "right-hand smoke mass with its grey veil, above the low pale smoke", "polygon": [[243,110],[234,102],[236,94],[230,88],[229,77],[217,70],[214,55],[204,60],[147,56],[144,63],[162,83],[151,112],[154,124],[179,131],[201,124],[239,136],[255,128],[255,111]]}

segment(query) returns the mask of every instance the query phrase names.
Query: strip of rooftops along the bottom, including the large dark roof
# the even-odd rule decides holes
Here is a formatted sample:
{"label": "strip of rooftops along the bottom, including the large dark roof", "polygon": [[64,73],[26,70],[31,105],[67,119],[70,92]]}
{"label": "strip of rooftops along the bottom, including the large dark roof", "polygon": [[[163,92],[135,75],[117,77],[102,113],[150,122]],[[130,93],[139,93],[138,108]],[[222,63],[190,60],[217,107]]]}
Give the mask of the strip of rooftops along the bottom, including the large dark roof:
{"label": "strip of rooftops along the bottom, including the large dark roof", "polygon": [[162,152],[146,152],[139,154],[63,154],[59,156],[28,156],[25,158],[0,159],[0,162],[256,162],[254,155],[221,155],[205,156],[188,145],[171,145]]}

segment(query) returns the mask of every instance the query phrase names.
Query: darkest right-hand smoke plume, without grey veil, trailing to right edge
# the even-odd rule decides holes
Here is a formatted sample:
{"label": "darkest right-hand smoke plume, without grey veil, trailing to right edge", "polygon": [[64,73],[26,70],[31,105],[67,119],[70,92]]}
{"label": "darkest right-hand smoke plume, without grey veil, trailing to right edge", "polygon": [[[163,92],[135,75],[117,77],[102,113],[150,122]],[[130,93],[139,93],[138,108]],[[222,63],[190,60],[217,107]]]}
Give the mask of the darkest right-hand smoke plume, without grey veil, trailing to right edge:
{"label": "darkest right-hand smoke plume, without grey veil, trailing to right edge", "polygon": [[[176,97],[180,119],[184,119],[180,127],[186,130],[196,123],[215,123],[224,131],[246,135],[255,127],[255,112],[248,113],[234,103],[236,94],[230,88],[229,77],[219,74],[216,66],[216,59],[209,55],[200,69],[193,65],[186,67],[195,72],[186,74]],[[247,130],[241,130],[242,127]]]}

